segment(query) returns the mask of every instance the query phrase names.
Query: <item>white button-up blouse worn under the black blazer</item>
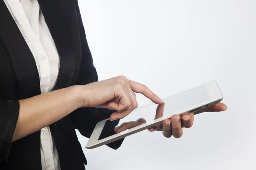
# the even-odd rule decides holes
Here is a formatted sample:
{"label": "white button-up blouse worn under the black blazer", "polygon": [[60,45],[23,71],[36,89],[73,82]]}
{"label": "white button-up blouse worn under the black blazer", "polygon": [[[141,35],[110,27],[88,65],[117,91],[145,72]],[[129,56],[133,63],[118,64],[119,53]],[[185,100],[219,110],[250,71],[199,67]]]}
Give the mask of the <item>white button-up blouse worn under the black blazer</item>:
{"label": "white button-up blouse worn under the black blazer", "polygon": [[[40,76],[41,93],[55,88],[59,56],[37,0],[4,0],[32,52]],[[22,56],[20,56],[22,57]],[[41,129],[42,170],[60,170],[58,153],[49,127]]]}

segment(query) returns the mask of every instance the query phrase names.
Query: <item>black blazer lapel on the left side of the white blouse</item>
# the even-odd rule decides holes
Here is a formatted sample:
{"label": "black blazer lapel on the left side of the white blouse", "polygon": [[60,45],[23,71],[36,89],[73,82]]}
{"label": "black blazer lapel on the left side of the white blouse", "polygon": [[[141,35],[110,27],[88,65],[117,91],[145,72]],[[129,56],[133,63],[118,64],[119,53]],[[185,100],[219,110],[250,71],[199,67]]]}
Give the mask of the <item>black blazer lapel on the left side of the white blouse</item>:
{"label": "black blazer lapel on the left side of the white blouse", "polygon": [[24,98],[41,94],[35,59],[6,4],[0,0],[0,39],[12,60],[13,69]]}

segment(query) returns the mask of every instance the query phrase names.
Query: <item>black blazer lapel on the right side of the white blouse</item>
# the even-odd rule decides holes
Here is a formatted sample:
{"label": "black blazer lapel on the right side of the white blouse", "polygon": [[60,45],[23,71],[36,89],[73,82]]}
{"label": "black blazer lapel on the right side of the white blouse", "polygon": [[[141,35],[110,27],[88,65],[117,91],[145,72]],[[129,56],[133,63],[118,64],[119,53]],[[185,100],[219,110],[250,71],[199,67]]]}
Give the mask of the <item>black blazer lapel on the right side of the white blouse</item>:
{"label": "black blazer lapel on the right side of the white blouse", "polygon": [[[62,4],[65,2],[62,1]],[[76,56],[73,37],[63,15],[63,9],[57,0],[38,0],[38,3],[60,57],[60,69],[55,89],[69,87],[74,79]]]}

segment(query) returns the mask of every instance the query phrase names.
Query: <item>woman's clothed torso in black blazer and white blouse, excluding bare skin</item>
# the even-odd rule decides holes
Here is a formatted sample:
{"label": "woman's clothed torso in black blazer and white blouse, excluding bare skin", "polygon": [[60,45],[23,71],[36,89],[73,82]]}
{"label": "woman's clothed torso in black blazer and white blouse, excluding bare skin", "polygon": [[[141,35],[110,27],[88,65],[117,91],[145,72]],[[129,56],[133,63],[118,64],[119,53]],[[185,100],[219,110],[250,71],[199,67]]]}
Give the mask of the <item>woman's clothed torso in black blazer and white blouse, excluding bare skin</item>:
{"label": "woman's clothed torso in black blazer and white blouse, excluding bare skin", "polygon": [[18,3],[0,0],[0,169],[83,170],[87,161],[75,129],[90,137],[113,111],[81,108],[11,143],[19,99],[98,80],[77,0]]}

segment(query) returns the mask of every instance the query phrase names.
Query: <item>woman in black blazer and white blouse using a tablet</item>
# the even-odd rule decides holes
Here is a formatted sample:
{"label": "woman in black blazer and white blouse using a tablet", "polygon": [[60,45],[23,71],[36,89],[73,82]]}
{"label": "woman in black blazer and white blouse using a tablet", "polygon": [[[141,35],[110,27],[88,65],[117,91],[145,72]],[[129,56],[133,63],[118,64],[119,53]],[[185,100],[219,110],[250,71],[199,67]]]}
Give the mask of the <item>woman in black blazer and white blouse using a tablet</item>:
{"label": "woman in black blazer and white blouse using a tablet", "polygon": [[[124,76],[97,82],[77,0],[0,0],[0,80],[1,170],[84,170],[75,129],[90,137],[102,119],[117,125],[137,107],[134,93],[163,103]],[[179,138],[193,120],[166,119],[163,136]]]}

